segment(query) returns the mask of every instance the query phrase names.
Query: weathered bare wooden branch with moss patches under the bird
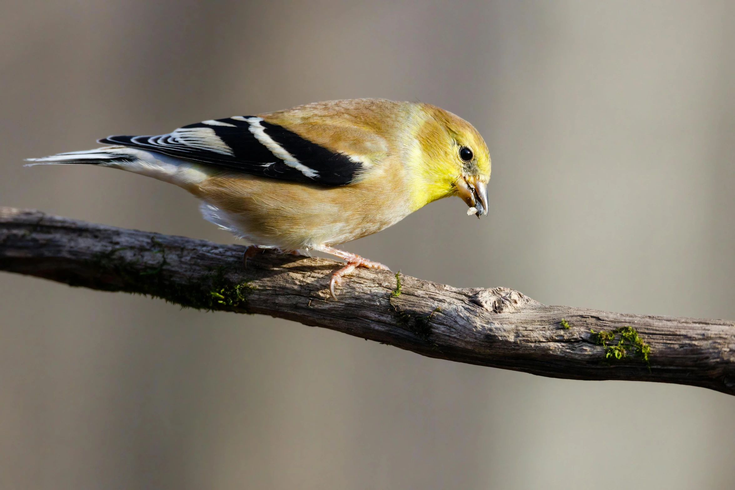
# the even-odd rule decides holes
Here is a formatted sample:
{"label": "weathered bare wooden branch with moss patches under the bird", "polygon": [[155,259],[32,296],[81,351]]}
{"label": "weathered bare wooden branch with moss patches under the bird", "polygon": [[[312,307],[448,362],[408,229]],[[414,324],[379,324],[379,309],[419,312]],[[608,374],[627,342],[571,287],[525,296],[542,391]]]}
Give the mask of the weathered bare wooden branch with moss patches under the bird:
{"label": "weathered bare wooden branch with moss patches under the bird", "polygon": [[458,289],[362,269],[334,301],[327,288],[336,262],[263,253],[246,269],[243,251],[0,208],[0,270],[200,309],[269,314],[451,361],[735,394],[731,321],[545,306],[512,289]]}

